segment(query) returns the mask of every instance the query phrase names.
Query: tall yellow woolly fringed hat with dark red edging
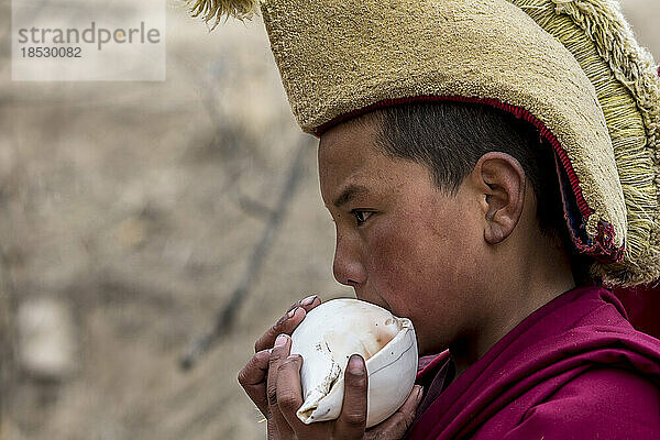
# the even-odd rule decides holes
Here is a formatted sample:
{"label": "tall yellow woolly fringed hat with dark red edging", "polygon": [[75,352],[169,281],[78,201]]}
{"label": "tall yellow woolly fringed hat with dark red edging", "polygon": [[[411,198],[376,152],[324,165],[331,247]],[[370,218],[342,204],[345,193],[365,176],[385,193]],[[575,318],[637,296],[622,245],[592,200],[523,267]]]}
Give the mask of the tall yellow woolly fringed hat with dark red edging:
{"label": "tall yellow woolly fringed hat with dark red edging", "polygon": [[307,133],[418,101],[481,102],[536,125],[592,272],[624,286],[660,277],[660,78],[615,0],[188,3],[213,25],[261,9]]}

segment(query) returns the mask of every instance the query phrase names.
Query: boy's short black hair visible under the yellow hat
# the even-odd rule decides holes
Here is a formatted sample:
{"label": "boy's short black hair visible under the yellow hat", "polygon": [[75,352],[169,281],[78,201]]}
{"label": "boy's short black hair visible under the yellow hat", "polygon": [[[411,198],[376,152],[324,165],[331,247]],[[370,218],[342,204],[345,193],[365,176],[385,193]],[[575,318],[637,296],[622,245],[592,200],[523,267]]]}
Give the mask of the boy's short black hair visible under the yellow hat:
{"label": "boy's short black hair visible under the yellow hat", "polygon": [[426,165],[436,185],[453,195],[484,154],[515,157],[531,184],[539,229],[569,252],[575,280],[588,278],[591,258],[574,252],[564,220],[554,152],[535,125],[479,102],[409,102],[370,113],[385,154]]}

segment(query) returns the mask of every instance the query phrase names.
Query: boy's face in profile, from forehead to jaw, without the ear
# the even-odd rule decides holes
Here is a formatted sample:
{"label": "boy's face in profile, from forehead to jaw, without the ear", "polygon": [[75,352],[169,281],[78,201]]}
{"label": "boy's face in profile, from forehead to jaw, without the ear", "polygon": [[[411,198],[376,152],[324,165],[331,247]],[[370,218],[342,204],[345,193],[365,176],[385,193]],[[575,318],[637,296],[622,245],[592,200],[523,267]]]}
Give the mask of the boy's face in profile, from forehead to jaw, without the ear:
{"label": "boy's face in profile, from forehead to jaw, without the ear", "polygon": [[420,354],[470,331],[487,279],[477,195],[440,190],[426,166],[384,155],[374,125],[343,123],[319,143],[321,196],[337,228],[336,278],[413,320]]}

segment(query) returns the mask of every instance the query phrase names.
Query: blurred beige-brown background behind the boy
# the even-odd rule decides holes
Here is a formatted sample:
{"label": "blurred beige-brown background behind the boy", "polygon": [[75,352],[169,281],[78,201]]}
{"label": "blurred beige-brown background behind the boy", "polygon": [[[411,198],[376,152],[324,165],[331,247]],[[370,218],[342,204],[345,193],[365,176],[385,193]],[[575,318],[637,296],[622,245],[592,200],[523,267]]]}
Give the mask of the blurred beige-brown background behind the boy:
{"label": "blurred beige-brown background behind the boy", "polygon": [[[660,2],[622,4],[660,59]],[[235,378],[255,339],[296,299],[352,292],[261,19],[209,33],[170,6],[165,81],[23,82],[10,7],[0,438],[264,438]]]}

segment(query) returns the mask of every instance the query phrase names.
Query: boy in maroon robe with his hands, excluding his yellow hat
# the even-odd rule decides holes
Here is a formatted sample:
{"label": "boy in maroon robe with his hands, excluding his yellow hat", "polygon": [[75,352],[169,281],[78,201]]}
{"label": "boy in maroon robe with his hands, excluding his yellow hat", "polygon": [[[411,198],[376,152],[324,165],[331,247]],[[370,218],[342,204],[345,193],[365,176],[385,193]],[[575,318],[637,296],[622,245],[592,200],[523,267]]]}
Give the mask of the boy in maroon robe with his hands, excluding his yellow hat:
{"label": "boy in maroon robe with his hands, excluding his yellow hat", "polygon": [[[319,143],[334,275],[359,299],[409,317],[420,353],[449,348],[451,360],[435,359],[418,375],[424,392],[365,433],[369,378],[355,356],[342,417],[305,426],[296,417],[302,361],[288,356],[287,334],[320,304],[308,298],[257,341],[239,376],[272,438],[398,439],[407,428],[419,439],[659,438],[660,342],[636,332],[608,290],[576,286],[581,263],[554,229],[561,223],[541,217],[560,212],[560,200],[530,154],[532,131],[464,103],[381,113]],[[410,139],[419,127],[432,129]],[[444,161],[453,176],[427,165]]]}

